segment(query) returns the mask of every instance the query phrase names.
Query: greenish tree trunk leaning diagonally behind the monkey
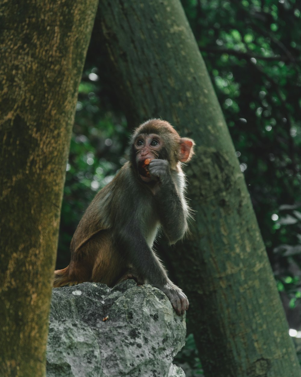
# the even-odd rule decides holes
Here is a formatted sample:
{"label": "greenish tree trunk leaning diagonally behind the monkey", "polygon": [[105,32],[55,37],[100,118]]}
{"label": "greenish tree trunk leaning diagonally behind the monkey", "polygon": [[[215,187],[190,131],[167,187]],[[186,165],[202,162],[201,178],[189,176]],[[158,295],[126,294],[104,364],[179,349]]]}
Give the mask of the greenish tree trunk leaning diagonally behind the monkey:
{"label": "greenish tree trunk leaning diagonally behind the monkey", "polygon": [[186,169],[193,235],[170,255],[206,377],[299,377],[245,181],[180,2],[101,0],[98,18],[131,126],[161,117],[197,144]]}

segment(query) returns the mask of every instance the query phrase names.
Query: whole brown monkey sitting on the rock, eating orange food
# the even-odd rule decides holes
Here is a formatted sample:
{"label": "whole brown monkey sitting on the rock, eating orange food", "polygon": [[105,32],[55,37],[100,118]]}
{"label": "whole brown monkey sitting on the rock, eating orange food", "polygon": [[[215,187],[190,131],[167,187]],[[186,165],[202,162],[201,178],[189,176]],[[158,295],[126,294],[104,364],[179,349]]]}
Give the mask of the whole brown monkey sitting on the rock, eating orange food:
{"label": "whole brown monkey sitting on the rock, eating orange food", "polygon": [[135,278],[163,291],[178,315],[187,310],[187,297],[169,280],[152,246],[159,228],[170,244],[187,231],[181,162],[190,160],[193,145],[163,120],[135,129],[129,161],[85,211],[71,241],[71,262],[55,271],[54,287],[87,281],[112,287]]}

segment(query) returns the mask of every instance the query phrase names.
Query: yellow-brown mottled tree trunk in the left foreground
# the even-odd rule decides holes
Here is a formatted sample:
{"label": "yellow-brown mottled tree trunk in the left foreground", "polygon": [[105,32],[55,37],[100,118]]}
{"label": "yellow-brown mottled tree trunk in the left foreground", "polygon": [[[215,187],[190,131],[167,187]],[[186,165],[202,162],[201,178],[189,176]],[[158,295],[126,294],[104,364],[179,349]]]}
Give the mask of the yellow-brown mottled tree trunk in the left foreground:
{"label": "yellow-brown mottled tree trunk in the left foreground", "polygon": [[3,2],[0,375],[44,376],[78,85],[97,0]]}

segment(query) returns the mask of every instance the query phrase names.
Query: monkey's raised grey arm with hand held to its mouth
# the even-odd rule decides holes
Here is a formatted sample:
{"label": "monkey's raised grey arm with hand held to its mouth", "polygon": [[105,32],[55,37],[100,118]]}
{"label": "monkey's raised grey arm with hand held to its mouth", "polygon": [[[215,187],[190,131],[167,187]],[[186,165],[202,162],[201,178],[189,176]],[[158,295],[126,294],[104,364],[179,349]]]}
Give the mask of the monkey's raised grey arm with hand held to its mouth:
{"label": "monkey's raised grey arm with hand held to its mouth", "polygon": [[[176,179],[172,179],[172,174],[178,173],[170,171],[167,160],[153,159],[149,165],[149,172],[160,180],[160,190],[155,195],[155,201],[163,231],[170,244],[175,244],[183,238],[188,229],[189,209],[183,195],[184,182],[181,182],[182,187],[176,186]],[[184,180],[180,175],[176,178]]]}

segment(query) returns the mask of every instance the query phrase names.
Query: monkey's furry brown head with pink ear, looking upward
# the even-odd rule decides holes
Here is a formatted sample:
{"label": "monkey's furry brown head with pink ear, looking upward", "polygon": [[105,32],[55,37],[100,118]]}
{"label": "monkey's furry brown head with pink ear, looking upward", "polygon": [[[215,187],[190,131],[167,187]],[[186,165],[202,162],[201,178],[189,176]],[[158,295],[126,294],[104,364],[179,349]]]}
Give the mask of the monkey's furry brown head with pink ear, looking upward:
{"label": "monkey's furry brown head with pink ear, looking upward", "polygon": [[165,159],[170,169],[176,169],[179,162],[187,162],[193,156],[194,141],[181,138],[167,121],[150,119],[134,130],[131,138],[131,162],[143,182],[151,182],[145,168],[146,159]]}

